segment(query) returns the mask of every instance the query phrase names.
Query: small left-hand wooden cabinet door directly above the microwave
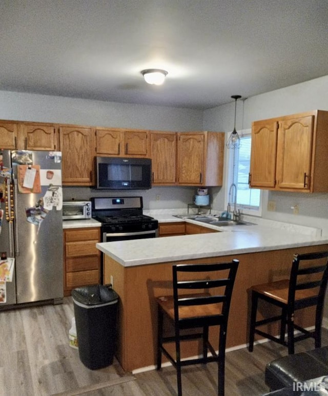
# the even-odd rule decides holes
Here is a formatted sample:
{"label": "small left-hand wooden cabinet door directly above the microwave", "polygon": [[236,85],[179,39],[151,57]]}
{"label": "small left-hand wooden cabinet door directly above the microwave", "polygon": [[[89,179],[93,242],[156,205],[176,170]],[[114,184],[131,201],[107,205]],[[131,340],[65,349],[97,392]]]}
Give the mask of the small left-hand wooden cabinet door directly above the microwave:
{"label": "small left-hand wooden cabinet door directly above the microwave", "polygon": [[96,130],[97,154],[120,155],[123,132],[115,129]]}

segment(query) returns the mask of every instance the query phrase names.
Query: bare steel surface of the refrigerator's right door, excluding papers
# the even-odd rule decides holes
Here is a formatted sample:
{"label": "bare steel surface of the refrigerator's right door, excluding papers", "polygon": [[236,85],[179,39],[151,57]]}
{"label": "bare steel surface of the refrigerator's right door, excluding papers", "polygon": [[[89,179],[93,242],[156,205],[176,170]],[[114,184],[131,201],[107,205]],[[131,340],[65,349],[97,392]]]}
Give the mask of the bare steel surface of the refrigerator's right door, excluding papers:
{"label": "bare steel surface of the refrigerator's right door, excluding papers", "polygon": [[[43,170],[59,170],[61,163],[49,152],[33,151],[33,165]],[[14,174],[17,175],[17,169]],[[62,210],[53,207],[39,226],[27,221],[27,208],[34,207],[45,196],[42,192],[19,193],[16,190],[15,248],[17,303],[63,298],[63,221]]]}

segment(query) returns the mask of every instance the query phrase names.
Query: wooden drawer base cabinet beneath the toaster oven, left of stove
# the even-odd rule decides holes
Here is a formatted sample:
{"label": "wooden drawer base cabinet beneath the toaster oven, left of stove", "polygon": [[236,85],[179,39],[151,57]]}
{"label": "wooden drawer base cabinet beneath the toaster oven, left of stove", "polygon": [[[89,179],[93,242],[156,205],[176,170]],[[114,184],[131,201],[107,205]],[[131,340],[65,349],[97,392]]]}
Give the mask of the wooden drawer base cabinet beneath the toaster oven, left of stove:
{"label": "wooden drawer base cabinet beneath the toaster oven, left of stove", "polygon": [[100,228],[64,230],[64,295],[79,286],[100,283]]}

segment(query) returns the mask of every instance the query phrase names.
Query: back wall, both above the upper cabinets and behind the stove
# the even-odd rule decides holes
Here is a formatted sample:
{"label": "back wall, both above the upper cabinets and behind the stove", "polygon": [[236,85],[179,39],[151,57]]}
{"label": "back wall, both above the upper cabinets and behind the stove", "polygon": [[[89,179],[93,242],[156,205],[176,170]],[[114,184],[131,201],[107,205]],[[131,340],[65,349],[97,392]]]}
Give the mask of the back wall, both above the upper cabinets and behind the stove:
{"label": "back wall, both above the upper cabinets and behind the stove", "polygon": [[[0,119],[2,120],[190,131],[202,130],[202,113],[200,110],[164,106],[143,106],[0,91]],[[196,189],[192,187],[153,187],[150,190],[133,193],[144,197],[145,209],[169,209],[186,208],[188,203],[192,203],[195,191]],[[96,195],[101,195],[101,193],[90,188],[66,187],[64,189],[64,199],[70,199],[73,196],[77,199],[89,199]],[[159,195],[159,201],[156,201],[156,195]]]}

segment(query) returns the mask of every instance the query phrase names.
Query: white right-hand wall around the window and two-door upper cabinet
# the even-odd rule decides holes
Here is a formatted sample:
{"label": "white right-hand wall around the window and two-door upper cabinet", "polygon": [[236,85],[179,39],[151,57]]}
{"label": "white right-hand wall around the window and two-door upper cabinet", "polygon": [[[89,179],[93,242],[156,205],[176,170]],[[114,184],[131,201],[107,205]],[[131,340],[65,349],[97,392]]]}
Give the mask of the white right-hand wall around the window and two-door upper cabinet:
{"label": "white right-hand wall around the window and two-door upper cabinet", "polygon": [[[251,128],[252,121],[264,120],[286,114],[309,110],[328,110],[328,76],[302,84],[237,101],[236,129]],[[242,92],[233,92],[233,94]],[[229,132],[234,123],[234,101],[204,111],[203,129]],[[327,131],[328,133],[328,131]],[[327,147],[328,152],[328,147]],[[224,204],[224,189],[216,191],[213,201],[217,207]],[[318,227],[328,235],[328,194],[305,194],[292,192],[264,192],[262,217]],[[276,202],[276,211],[267,210],[268,200]],[[294,215],[292,206],[299,205],[299,214]]]}

